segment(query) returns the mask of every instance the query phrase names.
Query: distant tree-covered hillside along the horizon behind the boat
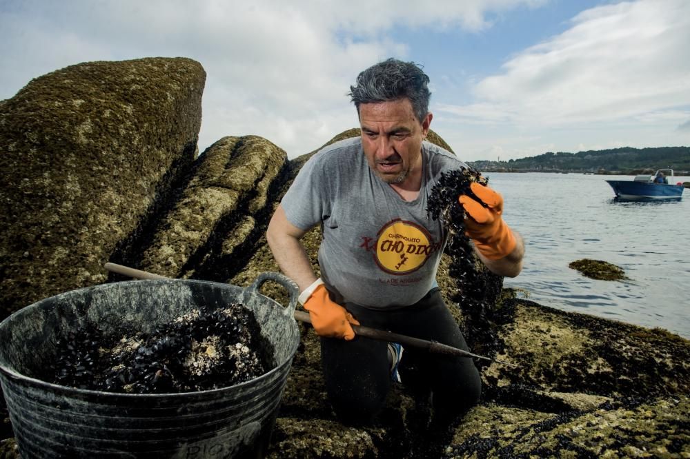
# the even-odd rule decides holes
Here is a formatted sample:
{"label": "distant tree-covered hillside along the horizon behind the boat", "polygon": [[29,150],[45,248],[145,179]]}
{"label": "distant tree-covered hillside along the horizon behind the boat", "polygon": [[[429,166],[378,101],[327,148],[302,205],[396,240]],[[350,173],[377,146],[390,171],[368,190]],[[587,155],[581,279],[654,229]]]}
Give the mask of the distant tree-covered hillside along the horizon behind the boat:
{"label": "distant tree-covered hillside along the horizon behind the boat", "polygon": [[670,167],[676,175],[687,175],[690,174],[690,147],[622,147],[578,153],[547,152],[510,161],[473,161],[469,164],[486,172],[638,174]]}

